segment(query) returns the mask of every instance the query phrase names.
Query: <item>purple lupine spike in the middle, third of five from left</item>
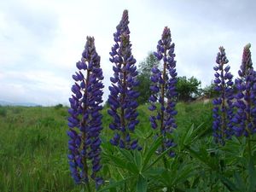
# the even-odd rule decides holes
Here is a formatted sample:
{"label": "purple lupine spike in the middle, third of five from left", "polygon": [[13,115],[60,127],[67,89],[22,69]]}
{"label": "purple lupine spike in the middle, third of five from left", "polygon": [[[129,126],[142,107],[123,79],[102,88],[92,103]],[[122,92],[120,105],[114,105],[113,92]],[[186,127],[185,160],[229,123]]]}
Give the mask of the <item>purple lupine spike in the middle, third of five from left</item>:
{"label": "purple lupine spike in the middle, third of five from left", "polygon": [[[163,68],[152,68],[151,81],[153,95],[149,97],[151,103],[148,108],[150,111],[156,111],[155,115],[151,115],[149,120],[153,129],[160,129],[160,136],[165,137],[163,147],[160,150],[165,150],[174,146],[172,140],[166,137],[166,133],[171,133],[177,128],[174,116],[177,114],[175,110],[175,97],[177,97],[177,72],[176,61],[174,60],[174,47],[172,43],[171,31],[166,26],[162,34],[162,38],[158,42],[157,51],[154,52],[158,61],[163,61]],[[160,103],[160,108],[156,103]],[[173,155],[171,152],[170,155]]]}

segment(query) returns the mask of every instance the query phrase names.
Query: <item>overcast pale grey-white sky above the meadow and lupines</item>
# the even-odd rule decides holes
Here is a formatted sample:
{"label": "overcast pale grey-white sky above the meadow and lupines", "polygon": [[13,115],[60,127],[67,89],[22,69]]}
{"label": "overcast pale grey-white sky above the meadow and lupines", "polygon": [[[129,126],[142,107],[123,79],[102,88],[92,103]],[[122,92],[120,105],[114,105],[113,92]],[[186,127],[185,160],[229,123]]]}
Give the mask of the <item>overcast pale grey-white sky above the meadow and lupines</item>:
{"label": "overcast pale grey-white sky above the meadow and lupines", "polygon": [[245,44],[256,58],[253,0],[1,0],[0,101],[68,104],[86,36],[96,38],[102,57],[106,100],[113,74],[108,53],[124,9],[137,64],[155,49],[164,26],[176,44],[178,76],[195,76],[203,86],[213,79],[219,46],[235,76]]}

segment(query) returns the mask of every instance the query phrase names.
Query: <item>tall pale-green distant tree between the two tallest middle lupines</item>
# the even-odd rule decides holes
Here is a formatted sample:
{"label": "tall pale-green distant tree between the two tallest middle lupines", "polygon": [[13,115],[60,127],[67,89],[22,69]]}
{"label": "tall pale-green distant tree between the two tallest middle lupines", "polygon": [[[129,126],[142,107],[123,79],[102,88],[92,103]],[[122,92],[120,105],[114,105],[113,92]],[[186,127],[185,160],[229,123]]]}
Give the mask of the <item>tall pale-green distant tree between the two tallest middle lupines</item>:
{"label": "tall pale-green distant tree between the two tallest middle lupines", "polygon": [[137,86],[137,90],[140,92],[140,96],[137,99],[139,104],[148,102],[148,97],[151,96],[151,90],[149,89],[151,81],[151,68],[154,66],[159,66],[160,62],[157,61],[154,54],[150,52],[144,61],[140,62],[138,65],[138,75],[137,79],[140,84]]}

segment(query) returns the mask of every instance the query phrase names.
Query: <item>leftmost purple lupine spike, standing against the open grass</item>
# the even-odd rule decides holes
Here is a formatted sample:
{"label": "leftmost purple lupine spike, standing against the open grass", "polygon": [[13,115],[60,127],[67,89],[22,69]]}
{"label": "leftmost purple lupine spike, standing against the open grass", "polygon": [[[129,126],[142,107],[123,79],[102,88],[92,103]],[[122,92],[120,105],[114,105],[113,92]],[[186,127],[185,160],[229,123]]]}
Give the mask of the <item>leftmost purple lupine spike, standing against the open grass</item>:
{"label": "leftmost purple lupine spike, standing against the open grass", "polygon": [[[97,176],[101,169],[100,154],[102,143],[102,68],[100,56],[96,53],[94,38],[87,37],[81,61],[77,62],[79,72],[73,75],[73,96],[69,98],[67,131],[68,160],[75,183],[88,183],[90,177],[96,186],[102,184]],[[89,164],[91,170],[89,170]],[[89,175],[90,174],[90,175]]]}

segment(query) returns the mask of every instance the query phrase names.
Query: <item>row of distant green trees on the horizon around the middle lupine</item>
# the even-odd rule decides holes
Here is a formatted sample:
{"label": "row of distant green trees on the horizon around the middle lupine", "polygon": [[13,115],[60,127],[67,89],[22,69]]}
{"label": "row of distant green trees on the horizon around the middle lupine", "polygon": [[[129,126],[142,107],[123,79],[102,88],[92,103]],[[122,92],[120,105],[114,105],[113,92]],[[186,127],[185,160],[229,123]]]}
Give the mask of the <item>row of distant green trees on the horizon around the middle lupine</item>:
{"label": "row of distant green trees on the horizon around the middle lupine", "polygon": [[[151,69],[152,67],[160,67],[160,61],[156,59],[153,52],[138,64],[137,79],[140,84],[137,90],[140,92],[138,97],[139,104],[148,102],[148,97],[152,95],[152,90],[149,89],[151,84]],[[218,92],[214,90],[214,84],[207,85],[201,88],[201,80],[194,76],[187,78],[186,76],[177,77],[177,101],[191,102],[199,96],[206,96],[212,98],[218,96]]]}

